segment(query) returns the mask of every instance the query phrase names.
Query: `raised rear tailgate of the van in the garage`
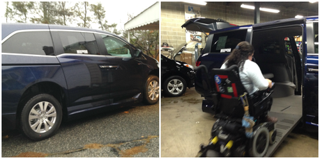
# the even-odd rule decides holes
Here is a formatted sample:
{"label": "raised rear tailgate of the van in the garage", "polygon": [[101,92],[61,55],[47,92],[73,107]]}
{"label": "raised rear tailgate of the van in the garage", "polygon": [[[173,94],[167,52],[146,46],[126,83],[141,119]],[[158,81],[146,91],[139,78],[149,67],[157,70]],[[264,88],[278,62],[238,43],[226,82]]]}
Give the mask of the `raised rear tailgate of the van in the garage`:
{"label": "raised rear tailgate of the van in the garage", "polygon": [[229,24],[222,19],[208,19],[208,18],[192,18],[189,19],[181,27],[186,28],[188,31],[201,31],[202,33],[210,33],[222,28],[230,28],[236,26]]}

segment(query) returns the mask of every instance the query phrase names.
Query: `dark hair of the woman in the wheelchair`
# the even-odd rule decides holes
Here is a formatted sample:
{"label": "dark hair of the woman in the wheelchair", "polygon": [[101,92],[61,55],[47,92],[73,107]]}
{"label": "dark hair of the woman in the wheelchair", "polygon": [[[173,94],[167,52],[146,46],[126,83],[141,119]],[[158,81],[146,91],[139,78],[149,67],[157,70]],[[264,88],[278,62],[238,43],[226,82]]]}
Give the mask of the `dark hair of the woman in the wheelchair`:
{"label": "dark hair of the woman in the wheelchair", "polygon": [[227,67],[238,65],[239,69],[243,69],[245,60],[247,60],[247,58],[249,58],[253,52],[254,48],[249,42],[239,42],[239,44],[236,45],[236,48],[230,53],[229,56],[227,56],[224,62],[228,61],[226,63]]}

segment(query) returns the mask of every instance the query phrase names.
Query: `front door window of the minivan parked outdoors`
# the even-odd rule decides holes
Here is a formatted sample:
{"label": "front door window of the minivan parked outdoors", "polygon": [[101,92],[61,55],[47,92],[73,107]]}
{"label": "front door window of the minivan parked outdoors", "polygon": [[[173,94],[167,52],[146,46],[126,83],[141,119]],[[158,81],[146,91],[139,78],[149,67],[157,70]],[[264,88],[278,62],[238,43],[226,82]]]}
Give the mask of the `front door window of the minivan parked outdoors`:
{"label": "front door window of the minivan parked outdoors", "polygon": [[130,46],[125,44],[122,40],[109,35],[101,35],[107,53],[112,56],[131,57]]}

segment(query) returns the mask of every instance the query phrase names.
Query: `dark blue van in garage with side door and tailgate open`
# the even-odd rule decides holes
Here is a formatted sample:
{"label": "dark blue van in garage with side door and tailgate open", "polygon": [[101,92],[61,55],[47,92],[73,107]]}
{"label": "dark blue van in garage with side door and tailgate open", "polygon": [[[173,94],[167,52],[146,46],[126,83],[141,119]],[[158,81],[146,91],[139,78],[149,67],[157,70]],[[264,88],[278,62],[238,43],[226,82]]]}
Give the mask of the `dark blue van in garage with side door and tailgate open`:
{"label": "dark blue van in garage with side door and tailgate open", "polygon": [[[272,74],[275,82],[273,97],[286,97],[282,101],[302,101],[293,103],[290,111],[292,117],[298,117],[290,128],[302,119],[304,126],[318,130],[319,119],[319,90],[318,90],[318,61],[319,17],[303,17],[280,19],[273,22],[234,26],[223,22],[199,24],[199,21],[183,24],[187,29],[204,27],[211,31],[207,37],[206,46],[197,60],[197,66],[204,65],[208,69],[209,81],[214,81],[210,70],[220,68],[224,59],[231,53],[239,42],[247,41],[254,47],[254,61],[259,65],[263,74]],[[195,27],[197,26],[197,27]],[[297,48],[296,42],[301,42]],[[211,97],[206,97],[208,88],[204,87],[201,72],[196,75],[195,85],[199,94],[204,96],[202,108],[212,112],[214,103]],[[289,108],[290,108],[289,107]],[[286,108],[287,109],[287,108]],[[302,111],[300,111],[302,110]],[[280,115],[281,116],[281,115]],[[289,131],[288,131],[289,132]]]}

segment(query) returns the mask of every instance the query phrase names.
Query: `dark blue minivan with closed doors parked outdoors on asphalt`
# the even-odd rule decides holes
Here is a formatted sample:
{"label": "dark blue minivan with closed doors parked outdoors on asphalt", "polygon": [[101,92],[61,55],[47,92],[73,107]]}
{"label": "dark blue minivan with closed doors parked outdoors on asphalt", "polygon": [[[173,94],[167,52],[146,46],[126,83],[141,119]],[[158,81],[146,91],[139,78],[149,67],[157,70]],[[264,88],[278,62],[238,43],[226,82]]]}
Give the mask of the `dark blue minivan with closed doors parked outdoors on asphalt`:
{"label": "dark blue minivan with closed doors parked outdoors on asphalt", "polygon": [[31,140],[70,120],[159,99],[158,61],[89,28],[2,24],[2,130]]}

